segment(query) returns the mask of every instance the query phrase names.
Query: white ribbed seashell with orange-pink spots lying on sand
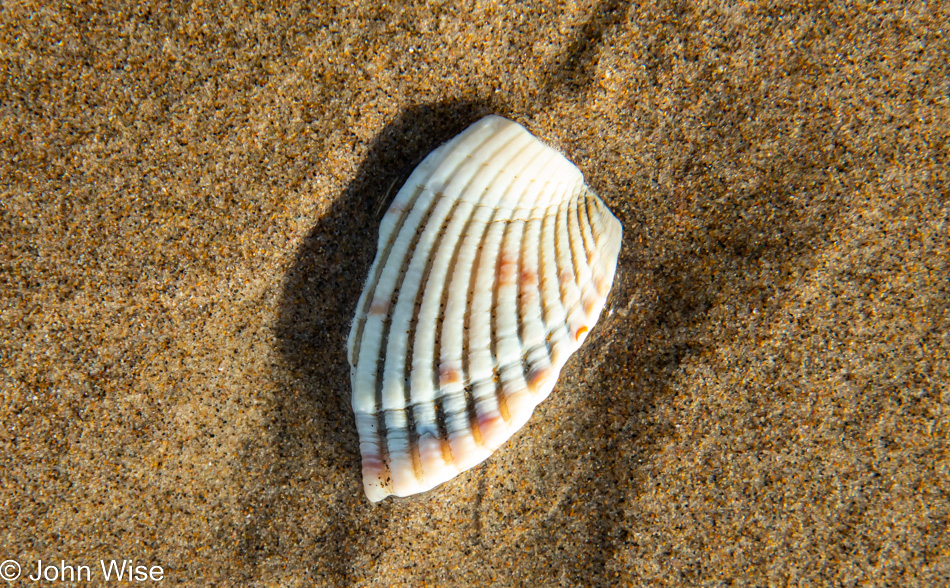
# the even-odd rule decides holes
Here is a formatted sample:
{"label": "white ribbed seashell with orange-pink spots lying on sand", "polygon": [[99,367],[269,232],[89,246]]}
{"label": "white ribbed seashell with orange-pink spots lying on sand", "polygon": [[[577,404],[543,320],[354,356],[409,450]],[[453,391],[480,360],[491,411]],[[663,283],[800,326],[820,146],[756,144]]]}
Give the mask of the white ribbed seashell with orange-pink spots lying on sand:
{"label": "white ribbed seashell with orange-pink spots lying on sand", "polygon": [[499,116],[419,164],[348,340],[371,501],[450,480],[527,422],[597,322],[621,235],[571,162]]}

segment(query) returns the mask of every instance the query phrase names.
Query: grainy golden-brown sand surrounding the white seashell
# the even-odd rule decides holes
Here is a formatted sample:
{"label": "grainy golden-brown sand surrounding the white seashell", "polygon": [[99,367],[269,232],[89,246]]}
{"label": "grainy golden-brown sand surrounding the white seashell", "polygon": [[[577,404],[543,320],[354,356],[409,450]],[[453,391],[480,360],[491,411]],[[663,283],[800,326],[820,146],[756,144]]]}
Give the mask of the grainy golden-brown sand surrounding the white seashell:
{"label": "grainy golden-brown sand surrounding the white seashell", "polygon": [[[473,6],[0,9],[0,559],[946,585],[947,5]],[[520,434],[374,507],[379,211],[487,113],[582,169],[618,279]]]}

